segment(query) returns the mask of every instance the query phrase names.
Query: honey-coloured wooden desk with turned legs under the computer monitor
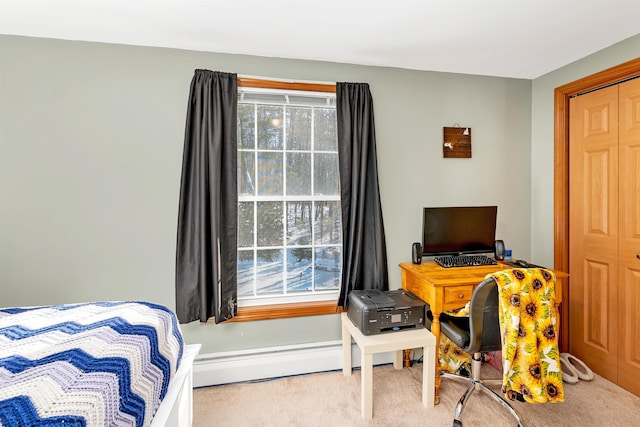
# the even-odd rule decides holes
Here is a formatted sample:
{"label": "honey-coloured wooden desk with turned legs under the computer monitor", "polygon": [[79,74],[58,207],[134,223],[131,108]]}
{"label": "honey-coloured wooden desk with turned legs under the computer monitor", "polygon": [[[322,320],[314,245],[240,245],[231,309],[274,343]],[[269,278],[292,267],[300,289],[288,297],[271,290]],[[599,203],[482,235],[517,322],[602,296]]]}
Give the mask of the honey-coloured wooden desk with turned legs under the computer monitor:
{"label": "honey-coloured wooden desk with turned legs under the computer monitor", "polygon": [[[454,267],[444,268],[433,261],[426,261],[422,264],[403,262],[402,288],[411,292],[418,298],[429,304],[433,313],[433,323],[431,332],[436,337],[436,349],[440,341],[440,313],[463,307],[469,300],[473,289],[482,282],[485,276],[495,271],[513,268],[509,265],[498,263],[497,265],[483,265],[478,267]],[[556,304],[562,302],[563,278],[569,277],[567,273],[553,270],[556,274]],[[568,334],[560,328],[562,315],[557,317],[556,330],[560,331],[559,336],[562,342],[560,351],[567,351]],[[436,357],[435,372],[435,403],[440,403],[440,373],[438,371],[438,357]]]}

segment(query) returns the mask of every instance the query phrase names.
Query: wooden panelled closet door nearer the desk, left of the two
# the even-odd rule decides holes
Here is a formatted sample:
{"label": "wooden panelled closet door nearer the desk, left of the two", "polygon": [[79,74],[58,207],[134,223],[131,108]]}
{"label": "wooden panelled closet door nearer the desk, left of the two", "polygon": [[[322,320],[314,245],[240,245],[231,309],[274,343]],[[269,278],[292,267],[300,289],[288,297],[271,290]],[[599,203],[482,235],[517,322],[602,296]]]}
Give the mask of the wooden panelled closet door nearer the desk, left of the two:
{"label": "wooden panelled closet door nearer the desk, left of the two", "polygon": [[617,383],[618,87],[569,108],[569,351]]}

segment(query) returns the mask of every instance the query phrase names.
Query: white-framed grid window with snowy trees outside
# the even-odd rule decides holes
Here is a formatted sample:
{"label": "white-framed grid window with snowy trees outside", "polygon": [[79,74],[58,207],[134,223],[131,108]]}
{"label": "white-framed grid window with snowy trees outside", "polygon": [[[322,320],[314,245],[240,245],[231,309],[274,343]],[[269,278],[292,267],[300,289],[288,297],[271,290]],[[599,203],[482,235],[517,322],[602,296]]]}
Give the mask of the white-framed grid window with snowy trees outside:
{"label": "white-framed grid window with snowy trees outside", "polygon": [[335,87],[281,86],[239,84],[240,307],[335,301],[340,288]]}

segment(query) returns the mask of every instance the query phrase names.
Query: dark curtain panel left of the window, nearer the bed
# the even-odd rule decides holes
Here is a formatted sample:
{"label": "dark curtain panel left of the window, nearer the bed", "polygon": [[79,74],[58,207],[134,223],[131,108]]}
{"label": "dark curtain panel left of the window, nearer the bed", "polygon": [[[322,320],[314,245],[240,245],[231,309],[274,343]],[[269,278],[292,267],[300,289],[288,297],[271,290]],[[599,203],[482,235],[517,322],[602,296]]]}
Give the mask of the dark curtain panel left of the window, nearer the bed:
{"label": "dark curtain panel left of the window, nearer the bed", "polygon": [[182,159],[176,248],[180,323],[237,314],[237,75],[196,70]]}

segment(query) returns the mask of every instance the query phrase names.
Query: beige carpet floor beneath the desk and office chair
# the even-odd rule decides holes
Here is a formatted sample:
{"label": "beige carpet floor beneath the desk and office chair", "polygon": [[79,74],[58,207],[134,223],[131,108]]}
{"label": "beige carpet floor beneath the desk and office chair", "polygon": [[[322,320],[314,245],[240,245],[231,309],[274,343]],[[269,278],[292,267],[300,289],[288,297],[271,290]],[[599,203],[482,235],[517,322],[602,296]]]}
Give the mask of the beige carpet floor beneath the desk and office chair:
{"label": "beige carpet floor beneath the desk and office chair", "polygon": [[[498,371],[483,366],[485,377]],[[443,378],[441,402],[421,402],[422,365],[373,370],[373,419],[360,415],[360,371],[341,371],[227,384],[194,390],[194,427],[205,426],[451,426],[466,385]],[[640,426],[640,397],[596,375],[590,382],[564,384],[563,403],[514,402],[528,427]],[[474,392],[462,416],[466,427],[514,426],[511,415],[482,392]]]}

